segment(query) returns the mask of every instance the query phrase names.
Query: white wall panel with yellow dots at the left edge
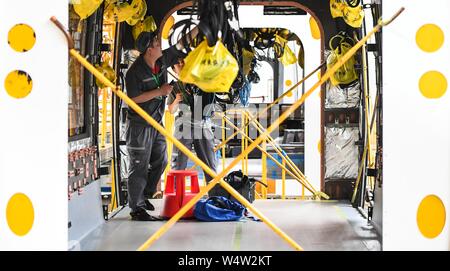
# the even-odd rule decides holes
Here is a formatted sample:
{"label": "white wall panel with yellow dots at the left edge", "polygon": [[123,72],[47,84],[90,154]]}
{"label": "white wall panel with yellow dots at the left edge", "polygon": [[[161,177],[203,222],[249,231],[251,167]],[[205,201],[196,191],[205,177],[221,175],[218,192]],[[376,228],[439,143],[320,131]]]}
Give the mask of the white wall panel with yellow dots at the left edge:
{"label": "white wall panel with yellow dots at the left edge", "polygon": [[[64,250],[68,52],[64,36],[49,18],[57,16],[66,25],[68,1],[0,2],[0,250]],[[19,23],[36,34],[34,47],[24,53],[7,42],[8,32]],[[33,80],[25,98],[13,98],[5,90],[5,78],[13,70],[25,71]],[[31,230],[23,236],[12,231],[6,218],[8,202],[16,193],[29,198],[34,213]]]}

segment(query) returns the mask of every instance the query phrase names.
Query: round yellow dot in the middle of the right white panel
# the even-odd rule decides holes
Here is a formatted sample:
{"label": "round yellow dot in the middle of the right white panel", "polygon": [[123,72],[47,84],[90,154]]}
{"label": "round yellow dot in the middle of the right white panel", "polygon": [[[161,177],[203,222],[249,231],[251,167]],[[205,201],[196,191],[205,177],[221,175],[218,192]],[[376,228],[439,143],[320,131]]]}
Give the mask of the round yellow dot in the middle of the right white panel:
{"label": "round yellow dot in the middle of the right white panel", "polygon": [[423,96],[438,99],[447,91],[447,78],[438,71],[426,72],[419,80],[419,89]]}

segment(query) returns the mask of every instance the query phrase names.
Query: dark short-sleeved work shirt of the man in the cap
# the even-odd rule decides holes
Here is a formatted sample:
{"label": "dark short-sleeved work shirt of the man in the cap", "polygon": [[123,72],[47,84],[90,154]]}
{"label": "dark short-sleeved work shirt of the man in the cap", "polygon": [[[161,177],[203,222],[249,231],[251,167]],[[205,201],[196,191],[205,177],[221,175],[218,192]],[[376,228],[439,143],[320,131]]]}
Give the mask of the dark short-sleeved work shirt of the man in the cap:
{"label": "dark short-sleeved work shirt of the man in the cap", "polygon": [[[128,69],[125,78],[128,96],[135,98],[146,91],[160,88],[167,83],[167,68],[178,63],[178,59],[184,57],[185,54],[177,50],[174,45],[162,52],[162,56],[155,63],[155,68],[152,69],[145,62],[144,56],[141,54]],[[161,122],[164,115],[165,100],[165,96],[158,96],[138,105],[156,121]],[[127,118],[131,124],[150,126],[150,124],[131,108],[128,108]]]}

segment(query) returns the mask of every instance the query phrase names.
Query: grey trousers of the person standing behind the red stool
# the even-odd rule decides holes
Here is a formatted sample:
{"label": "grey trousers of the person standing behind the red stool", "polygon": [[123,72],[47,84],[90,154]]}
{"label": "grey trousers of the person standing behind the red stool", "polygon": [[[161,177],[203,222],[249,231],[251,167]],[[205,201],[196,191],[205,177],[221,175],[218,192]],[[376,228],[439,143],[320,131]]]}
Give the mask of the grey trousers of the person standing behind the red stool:
{"label": "grey trousers of the person standing behind the red stool", "polygon": [[[197,157],[200,158],[206,165],[208,165],[214,172],[217,171],[217,158],[214,153],[214,134],[211,129],[211,125],[206,124],[202,128],[195,127],[194,129],[202,129],[202,136],[196,138],[194,136],[189,136],[184,138],[182,136],[182,124],[178,124],[175,127],[175,137],[189,150],[192,149],[194,145],[195,153]],[[192,132],[191,135],[198,135],[199,133]],[[188,162],[188,157],[182,153],[176,146],[173,147],[172,155],[172,169],[183,170],[186,169]],[[205,174],[206,182],[209,183],[213,178],[203,171]],[[209,196],[221,195],[222,188],[217,184],[213,189],[210,190]]]}

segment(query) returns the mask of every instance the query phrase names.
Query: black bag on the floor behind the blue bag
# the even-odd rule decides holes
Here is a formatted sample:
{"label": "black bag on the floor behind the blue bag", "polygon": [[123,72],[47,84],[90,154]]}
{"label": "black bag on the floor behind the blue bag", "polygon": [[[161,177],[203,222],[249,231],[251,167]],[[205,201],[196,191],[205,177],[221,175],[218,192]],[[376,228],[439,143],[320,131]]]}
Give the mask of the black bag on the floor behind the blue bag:
{"label": "black bag on the floor behind the blue bag", "polygon": [[[246,198],[250,203],[255,200],[255,185],[256,182],[267,187],[265,183],[255,179],[249,178],[247,175],[244,175],[241,170],[233,171],[228,174],[224,181],[226,181],[229,185],[231,185],[237,192],[239,192],[244,198]],[[223,196],[228,199],[237,201],[234,197],[230,195],[226,190],[223,190]]]}

